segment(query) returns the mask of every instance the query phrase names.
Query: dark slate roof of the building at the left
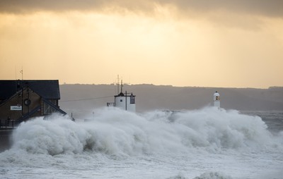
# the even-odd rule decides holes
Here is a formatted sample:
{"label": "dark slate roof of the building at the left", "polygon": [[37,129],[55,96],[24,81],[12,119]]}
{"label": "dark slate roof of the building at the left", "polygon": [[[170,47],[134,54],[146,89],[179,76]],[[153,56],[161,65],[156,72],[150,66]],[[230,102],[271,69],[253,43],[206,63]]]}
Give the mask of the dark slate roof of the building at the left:
{"label": "dark slate roof of the building at the left", "polygon": [[5,100],[25,87],[45,99],[60,99],[58,80],[0,80],[0,99]]}

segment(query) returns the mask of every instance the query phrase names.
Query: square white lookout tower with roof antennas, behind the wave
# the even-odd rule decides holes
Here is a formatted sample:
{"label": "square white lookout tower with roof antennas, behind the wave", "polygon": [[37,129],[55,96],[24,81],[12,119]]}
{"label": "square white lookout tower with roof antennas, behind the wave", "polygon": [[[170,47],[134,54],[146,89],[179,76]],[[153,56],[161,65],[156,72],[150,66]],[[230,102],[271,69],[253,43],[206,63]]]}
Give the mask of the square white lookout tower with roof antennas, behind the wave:
{"label": "square white lookout tower with roof antennas, behind the wave", "polygon": [[136,96],[132,93],[122,92],[122,82],[121,82],[121,92],[119,93],[118,86],[118,94],[115,95],[114,103],[107,103],[107,106],[115,106],[125,111],[136,112]]}

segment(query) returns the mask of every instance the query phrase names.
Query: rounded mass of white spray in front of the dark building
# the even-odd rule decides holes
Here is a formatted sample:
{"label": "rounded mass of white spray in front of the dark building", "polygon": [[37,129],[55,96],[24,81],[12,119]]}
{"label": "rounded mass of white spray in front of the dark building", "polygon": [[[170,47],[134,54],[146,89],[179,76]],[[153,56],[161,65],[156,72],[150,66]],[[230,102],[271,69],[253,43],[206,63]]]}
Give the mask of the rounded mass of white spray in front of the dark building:
{"label": "rounded mass of white spray in front of the dark building", "polygon": [[54,114],[50,118],[34,118],[21,123],[13,133],[13,148],[31,153],[79,153],[86,145],[88,134],[67,116]]}

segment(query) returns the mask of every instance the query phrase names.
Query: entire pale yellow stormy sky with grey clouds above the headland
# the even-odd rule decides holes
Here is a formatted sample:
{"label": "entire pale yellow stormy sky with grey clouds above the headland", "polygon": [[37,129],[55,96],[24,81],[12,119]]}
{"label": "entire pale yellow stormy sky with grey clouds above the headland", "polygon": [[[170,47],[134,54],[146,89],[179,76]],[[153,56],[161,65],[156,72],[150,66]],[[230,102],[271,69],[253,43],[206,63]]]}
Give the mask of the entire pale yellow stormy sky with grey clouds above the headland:
{"label": "entire pale yellow stormy sky with grey clouds above the headland", "polygon": [[0,78],[283,86],[283,1],[0,1]]}

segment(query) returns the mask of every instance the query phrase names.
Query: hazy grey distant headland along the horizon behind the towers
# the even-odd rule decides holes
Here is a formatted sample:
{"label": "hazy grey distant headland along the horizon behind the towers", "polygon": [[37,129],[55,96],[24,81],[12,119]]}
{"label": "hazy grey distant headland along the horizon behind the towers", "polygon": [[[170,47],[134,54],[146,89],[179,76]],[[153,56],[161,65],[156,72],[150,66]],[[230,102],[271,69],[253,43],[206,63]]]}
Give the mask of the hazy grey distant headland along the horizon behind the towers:
{"label": "hazy grey distant headland along the horizon behind the towers", "polygon": [[[241,111],[283,111],[283,87],[173,87],[171,85],[124,85],[124,90],[137,95],[137,111],[158,109],[192,110],[212,105],[212,95],[221,95],[221,107]],[[60,85],[59,105],[66,111],[92,111],[113,101],[117,87],[111,85]],[[108,97],[108,98],[100,98]],[[89,99],[68,101],[72,99]]]}

